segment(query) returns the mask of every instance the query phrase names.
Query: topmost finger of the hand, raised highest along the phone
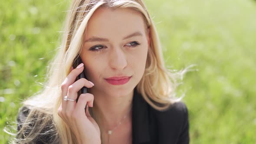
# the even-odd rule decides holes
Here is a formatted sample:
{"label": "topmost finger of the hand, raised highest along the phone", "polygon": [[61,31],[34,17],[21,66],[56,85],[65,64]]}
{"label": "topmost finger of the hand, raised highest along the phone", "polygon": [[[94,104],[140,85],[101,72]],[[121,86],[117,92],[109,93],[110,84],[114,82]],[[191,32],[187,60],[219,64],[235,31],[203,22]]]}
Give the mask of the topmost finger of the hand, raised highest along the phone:
{"label": "topmost finger of the hand, raised highest along the phone", "polygon": [[[82,66],[81,66],[82,65]],[[69,85],[75,82],[76,77],[83,71],[84,67],[81,63],[75,69],[73,69],[66,79],[61,84],[61,96],[62,96],[62,108],[66,109],[66,101],[64,101],[64,96],[68,93]]]}

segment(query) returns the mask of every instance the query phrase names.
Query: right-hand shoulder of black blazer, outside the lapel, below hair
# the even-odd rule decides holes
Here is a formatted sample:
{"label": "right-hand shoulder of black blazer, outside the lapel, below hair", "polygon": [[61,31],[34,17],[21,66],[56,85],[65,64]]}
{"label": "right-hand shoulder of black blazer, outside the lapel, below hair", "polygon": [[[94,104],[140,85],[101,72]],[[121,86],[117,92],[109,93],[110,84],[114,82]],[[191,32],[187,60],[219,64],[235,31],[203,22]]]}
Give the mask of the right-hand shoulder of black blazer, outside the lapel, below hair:
{"label": "right-hand shoulder of black blazer, outside the lapel, below hair", "polygon": [[189,143],[189,121],[187,106],[176,102],[165,111],[154,110],[159,136],[163,141],[176,141],[177,144]]}

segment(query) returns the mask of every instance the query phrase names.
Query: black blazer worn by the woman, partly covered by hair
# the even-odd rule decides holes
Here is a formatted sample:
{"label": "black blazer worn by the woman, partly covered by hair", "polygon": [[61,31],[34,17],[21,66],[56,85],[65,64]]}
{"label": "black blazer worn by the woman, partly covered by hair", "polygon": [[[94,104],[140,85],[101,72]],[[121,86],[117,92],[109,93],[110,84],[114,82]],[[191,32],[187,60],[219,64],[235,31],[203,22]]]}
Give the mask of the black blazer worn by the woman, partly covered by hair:
{"label": "black blazer worn by the woman, partly covered by hair", "polygon": [[[182,102],[177,102],[166,111],[157,111],[142,98],[141,94],[134,91],[132,100],[132,144],[189,144],[189,123],[187,107]],[[23,107],[18,114],[17,130],[19,131],[29,109]],[[53,124],[49,124],[52,128]],[[47,133],[43,129],[35,144],[51,144],[54,133]],[[29,133],[30,131],[26,131]]]}

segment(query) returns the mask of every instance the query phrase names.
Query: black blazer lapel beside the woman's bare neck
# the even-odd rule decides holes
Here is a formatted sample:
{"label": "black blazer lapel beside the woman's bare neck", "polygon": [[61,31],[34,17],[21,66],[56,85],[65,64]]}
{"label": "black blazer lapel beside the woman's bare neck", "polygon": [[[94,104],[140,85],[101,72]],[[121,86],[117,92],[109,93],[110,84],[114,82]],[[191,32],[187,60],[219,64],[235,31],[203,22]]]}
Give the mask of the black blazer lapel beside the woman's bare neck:
{"label": "black blazer lapel beside the woman's bare neck", "polygon": [[132,100],[132,144],[150,141],[149,106],[141,94],[134,89]]}

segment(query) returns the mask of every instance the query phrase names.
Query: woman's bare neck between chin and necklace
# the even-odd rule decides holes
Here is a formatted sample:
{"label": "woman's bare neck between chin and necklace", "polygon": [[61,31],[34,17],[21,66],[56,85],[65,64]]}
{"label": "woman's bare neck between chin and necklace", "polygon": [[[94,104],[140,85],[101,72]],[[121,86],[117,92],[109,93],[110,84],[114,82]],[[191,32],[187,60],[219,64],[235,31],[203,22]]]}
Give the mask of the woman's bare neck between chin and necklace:
{"label": "woman's bare neck between chin and necklace", "polygon": [[[131,118],[133,91],[127,95],[111,96],[91,92],[94,97],[93,111],[99,119],[99,125],[105,130],[112,130],[119,122],[124,123]],[[126,118],[124,119],[124,117]]]}

